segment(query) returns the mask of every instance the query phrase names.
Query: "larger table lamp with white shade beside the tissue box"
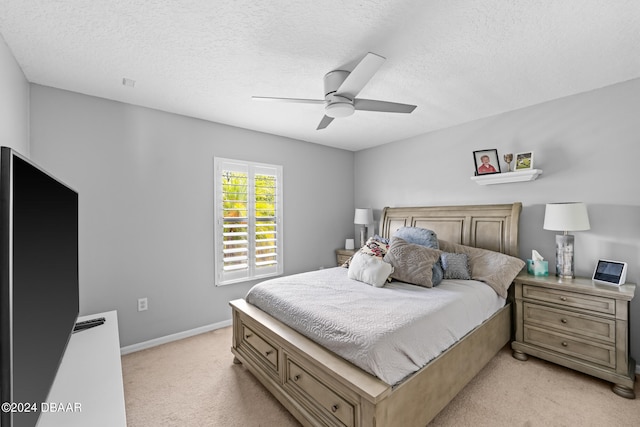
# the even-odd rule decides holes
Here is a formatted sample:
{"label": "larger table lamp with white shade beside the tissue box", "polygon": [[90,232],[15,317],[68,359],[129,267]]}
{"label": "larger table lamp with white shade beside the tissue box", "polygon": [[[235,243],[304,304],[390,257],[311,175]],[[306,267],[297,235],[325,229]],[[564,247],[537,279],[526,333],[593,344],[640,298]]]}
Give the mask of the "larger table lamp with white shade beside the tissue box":
{"label": "larger table lamp with white shade beside the tissue box", "polygon": [[547,203],[543,228],[563,232],[556,235],[556,276],[574,278],[574,237],[568,232],[591,228],[587,206],[581,202]]}

